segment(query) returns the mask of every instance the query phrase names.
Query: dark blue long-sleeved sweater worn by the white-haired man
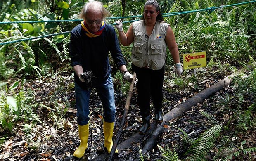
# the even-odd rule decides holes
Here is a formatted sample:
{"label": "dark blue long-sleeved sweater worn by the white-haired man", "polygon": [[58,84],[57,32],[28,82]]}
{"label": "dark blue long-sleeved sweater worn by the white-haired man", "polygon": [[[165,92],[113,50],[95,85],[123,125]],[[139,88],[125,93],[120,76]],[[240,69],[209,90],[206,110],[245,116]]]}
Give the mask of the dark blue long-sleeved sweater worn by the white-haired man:
{"label": "dark blue long-sleeved sweater worn by the white-haired man", "polygon": [[[92,71],[94,80],[103,81],[111,73],[109,52],[116,66],[126,65],[116,37],[114,27],[106,24],[100,36],[89,38],[82,30],[81,24],[74,27],[70,36],[71,66],[81,65],[83,71]],[[75,74],[75,82],[85,86]]]}

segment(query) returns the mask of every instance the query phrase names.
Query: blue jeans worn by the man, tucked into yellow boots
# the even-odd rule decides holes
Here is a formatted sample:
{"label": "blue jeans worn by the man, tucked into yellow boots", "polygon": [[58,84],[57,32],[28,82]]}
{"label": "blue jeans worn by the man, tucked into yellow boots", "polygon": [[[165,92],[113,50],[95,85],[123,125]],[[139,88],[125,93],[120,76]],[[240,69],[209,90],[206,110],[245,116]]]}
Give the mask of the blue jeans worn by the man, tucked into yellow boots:
{"label": "blue jeans worn by the man, tucked into yellow boots", "polygon": [[[104,121],[112,123],[115,120],[115,100],[114,100],[114,88],[111,75],[105,81],[93,82],[98,95],[100,96],[103,105],[103,118]],[[90,117],[89,111],[89,99],[91,90],[82,89],[77,83],[75,83],[76,93],[76,108],[77,108],[77,122],[78,125],[86,125]]]}

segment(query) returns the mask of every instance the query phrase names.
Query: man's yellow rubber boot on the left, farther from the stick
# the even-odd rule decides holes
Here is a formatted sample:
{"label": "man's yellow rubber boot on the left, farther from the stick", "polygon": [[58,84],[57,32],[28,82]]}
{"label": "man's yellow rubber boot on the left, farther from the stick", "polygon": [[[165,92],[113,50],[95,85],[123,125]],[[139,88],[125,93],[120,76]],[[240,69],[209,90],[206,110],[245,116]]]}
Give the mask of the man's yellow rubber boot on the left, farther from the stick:
{"label": "man's yellow rubber boot on the left, farther from the stick", "polygon": [[80,138],[80,145],[74,152],[73,156],[81,158],[85,154],[85,150],[88,147],[87,141],[89,137],[89,123],[87,125],[78,125],[78,133]]}

